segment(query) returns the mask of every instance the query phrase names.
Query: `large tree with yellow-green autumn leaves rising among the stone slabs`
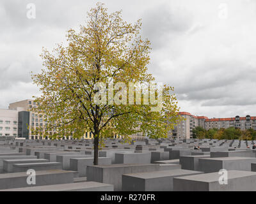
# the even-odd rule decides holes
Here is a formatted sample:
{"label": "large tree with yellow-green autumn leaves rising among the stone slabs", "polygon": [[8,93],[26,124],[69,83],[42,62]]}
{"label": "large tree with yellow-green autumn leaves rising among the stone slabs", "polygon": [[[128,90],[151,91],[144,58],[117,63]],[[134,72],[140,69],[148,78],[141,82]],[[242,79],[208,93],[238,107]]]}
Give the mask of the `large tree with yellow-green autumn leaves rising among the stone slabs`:
{"label": "large tree with yellow-green autumn leaves rising among the stone slabs", "polygon": [[[148,89],[155,79],[147,71],[150,42],[141,39],[140,29],[141,20],[128,24],[121,11],[108,14],[104,4],[97,3],[78,33],[68,31],[68,45],[58,44],[53,52],[43,49],[45,68],[32,74],[42,92],[33,111],[47,115],[48,123],[33,131],[51,138],[81,138],[92,132],[95,165],[104,138],[121,135],[129,141],[137,132],[166,137],[179,120],[177,99],[168,85],[161,91]],[[52,129],[56,133],[51,135]]]}

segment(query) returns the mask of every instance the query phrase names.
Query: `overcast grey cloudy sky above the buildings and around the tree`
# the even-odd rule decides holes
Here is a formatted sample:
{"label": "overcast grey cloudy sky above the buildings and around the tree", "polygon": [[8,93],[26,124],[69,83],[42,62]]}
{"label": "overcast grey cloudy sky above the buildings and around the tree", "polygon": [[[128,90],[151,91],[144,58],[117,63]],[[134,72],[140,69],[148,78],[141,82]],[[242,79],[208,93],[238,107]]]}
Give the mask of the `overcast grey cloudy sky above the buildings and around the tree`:
{"label": "overcast grey cloudy sky above the buildings and around the tree", "polygon": [[[142,18],[152,43],[149,71],[175,88],[181,111],[207,117],[256,116],[255,0],[108,0],[124,20]],[[27,4],[36,18],[27,17]],[[42,47],[65,41],[85,24],[92,0],[0,1],[0,108],[38,95],[30,72],[42,69]]]}

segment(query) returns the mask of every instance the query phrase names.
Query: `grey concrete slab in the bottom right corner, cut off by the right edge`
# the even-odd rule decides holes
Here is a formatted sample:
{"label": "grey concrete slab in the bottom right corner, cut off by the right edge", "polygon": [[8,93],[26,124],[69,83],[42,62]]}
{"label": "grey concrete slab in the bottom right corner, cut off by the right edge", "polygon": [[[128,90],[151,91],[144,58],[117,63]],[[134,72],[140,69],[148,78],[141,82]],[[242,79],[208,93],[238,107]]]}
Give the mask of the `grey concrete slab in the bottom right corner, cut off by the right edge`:
{"label": "grey concrete slab in the bottom right corner, cut off by the right edge", "polygon": [[226,184],[220,184],[220,174],[204,173],[173,179],[174,191],[256,191],[256,172],[229,170]]}

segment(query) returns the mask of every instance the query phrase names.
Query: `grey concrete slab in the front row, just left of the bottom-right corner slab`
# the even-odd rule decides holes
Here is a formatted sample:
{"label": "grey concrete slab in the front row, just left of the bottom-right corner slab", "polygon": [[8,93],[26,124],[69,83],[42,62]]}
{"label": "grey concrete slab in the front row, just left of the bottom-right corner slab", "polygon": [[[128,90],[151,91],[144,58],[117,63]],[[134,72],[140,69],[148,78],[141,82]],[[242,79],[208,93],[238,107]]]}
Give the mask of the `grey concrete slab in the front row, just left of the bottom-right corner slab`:
{"label": "grey concrete slab in the front row, just left of the bottom-right corner slab", "polygon": [[168,170],[129,173],[122,176],[122,191],[173,191],[173,178],[200,171]]}

